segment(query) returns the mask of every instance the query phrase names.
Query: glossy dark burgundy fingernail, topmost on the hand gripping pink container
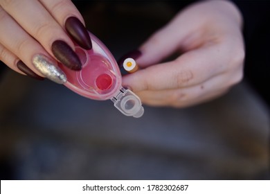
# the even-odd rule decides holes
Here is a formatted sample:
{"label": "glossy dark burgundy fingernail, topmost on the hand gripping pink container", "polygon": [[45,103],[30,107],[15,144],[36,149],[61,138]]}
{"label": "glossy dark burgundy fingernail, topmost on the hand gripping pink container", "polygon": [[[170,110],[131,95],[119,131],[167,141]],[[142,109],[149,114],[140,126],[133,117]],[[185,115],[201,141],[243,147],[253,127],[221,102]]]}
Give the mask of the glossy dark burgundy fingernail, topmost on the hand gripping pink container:
{"label": "glossy dark burgundy fingernail, topmost on the hand gripping pink container", "polygon": [[87,50],[92,48],[92,42],[87,28],[84,27],[77,17],[66,19],[65,27],[66,32],[79,46]]}

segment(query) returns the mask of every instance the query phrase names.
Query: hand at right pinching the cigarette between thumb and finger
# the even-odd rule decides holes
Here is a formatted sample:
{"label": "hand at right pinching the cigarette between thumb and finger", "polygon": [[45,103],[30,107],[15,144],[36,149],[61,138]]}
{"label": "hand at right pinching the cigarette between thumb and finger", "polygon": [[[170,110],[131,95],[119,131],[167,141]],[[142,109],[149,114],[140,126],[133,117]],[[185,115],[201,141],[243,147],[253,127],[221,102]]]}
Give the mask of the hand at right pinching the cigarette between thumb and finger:
{"label": "hand at right pinching the cigarette between thumb and finger", "polygon": [[[124,76],[123,85],[153,106],[187,107],[221,96],[242,80],[241,28],[229,1],[192,4],[139,48],[143,69]],[[177,59],[159,63],[177,51]]]}

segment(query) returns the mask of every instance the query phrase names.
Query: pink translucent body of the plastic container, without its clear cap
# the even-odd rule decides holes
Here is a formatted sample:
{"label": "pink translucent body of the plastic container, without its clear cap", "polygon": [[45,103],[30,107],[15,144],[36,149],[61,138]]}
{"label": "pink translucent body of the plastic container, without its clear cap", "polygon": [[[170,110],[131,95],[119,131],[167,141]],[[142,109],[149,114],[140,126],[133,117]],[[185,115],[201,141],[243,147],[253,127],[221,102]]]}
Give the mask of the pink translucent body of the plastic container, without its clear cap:
{"label": "pink translucent body of the plastic container, without its clear cap", "polygon": [[76,46],[75,50],[83,64],[82,70],[73,71],[59,64],[66,73],[67,82],[64,85],[93,100],[111,99],[121,88],[118,64],[109,49],[95,35],[89,34],[93,48],[87,51]]}

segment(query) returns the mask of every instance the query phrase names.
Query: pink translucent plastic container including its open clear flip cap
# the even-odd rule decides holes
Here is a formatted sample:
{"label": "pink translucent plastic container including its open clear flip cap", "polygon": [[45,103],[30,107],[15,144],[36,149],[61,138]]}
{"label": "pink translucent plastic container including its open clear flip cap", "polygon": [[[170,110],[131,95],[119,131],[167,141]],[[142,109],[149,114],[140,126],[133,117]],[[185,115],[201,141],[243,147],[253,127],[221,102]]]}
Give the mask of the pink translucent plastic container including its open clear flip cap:
{"label": "pink translucent plastic container including its open clear flip cap", "polygon": [[73,71],[63,64],[59,67],[66,73],[66,87],[81,96],[93,100],[108,100],[126,116],[143,116],[140,98],[122,86],[122,76],[114,56],[93,34],[89,33],[92,49],[87,51],[76,46],[75,53],[82,62],[82,70]]}

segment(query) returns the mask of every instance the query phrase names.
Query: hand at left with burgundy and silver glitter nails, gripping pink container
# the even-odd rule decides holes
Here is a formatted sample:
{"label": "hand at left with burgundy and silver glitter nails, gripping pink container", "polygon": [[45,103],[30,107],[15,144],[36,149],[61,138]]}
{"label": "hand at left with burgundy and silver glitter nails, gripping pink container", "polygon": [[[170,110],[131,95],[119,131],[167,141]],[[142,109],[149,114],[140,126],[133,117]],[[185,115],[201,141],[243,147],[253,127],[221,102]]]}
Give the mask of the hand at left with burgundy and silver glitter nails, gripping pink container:
{"label": "hand at left with burgundy and silver glitter nails, gripping pink container", "polygon": [[57,61],[73,70],[82,66],[73,41],[91,49],[83,23],[70,0],[0,0],[0,60],[19,73],[62,84],[66,76]]}

